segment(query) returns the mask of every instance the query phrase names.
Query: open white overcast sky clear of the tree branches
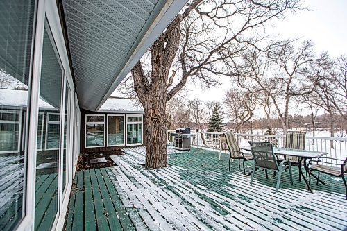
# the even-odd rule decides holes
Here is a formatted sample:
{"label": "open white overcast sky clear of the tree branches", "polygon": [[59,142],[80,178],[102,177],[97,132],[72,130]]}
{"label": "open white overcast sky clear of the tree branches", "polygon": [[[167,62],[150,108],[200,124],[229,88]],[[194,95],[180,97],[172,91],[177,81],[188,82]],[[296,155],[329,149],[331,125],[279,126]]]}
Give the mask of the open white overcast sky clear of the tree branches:
{"label": "open white overcast sky clear of the tree branches", "polygon": [[[302,3],[311,10],[287,15],[287,19],[266,28],[266,33],[279,35],[283,39],[310,39],[318,53],[328,51],[332,57],[347,54],[347,0],[303,0]],[[188,85],[188,98],[221,101],[230,87],[228,82],[225,79],[222,85],[210,89]]]}

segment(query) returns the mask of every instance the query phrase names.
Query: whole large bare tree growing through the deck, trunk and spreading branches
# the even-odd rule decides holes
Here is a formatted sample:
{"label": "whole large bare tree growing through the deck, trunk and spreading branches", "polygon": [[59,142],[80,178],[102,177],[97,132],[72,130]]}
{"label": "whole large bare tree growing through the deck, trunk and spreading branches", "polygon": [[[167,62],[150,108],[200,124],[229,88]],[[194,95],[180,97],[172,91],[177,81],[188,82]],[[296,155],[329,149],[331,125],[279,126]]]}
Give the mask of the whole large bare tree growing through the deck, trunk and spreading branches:
{"label": "whole large bare tree growing through the deck, trunk and spreading branches", "polygon": [[165,103],[188,79],[217,84],[215,76],[228,75],[224,61],[261,40],[258,28],[298,7],[299,0],[192,0],[183,8],[151,46],[150,71],[142,62],[131,71],[145,111],[146,168],[167,166]]}

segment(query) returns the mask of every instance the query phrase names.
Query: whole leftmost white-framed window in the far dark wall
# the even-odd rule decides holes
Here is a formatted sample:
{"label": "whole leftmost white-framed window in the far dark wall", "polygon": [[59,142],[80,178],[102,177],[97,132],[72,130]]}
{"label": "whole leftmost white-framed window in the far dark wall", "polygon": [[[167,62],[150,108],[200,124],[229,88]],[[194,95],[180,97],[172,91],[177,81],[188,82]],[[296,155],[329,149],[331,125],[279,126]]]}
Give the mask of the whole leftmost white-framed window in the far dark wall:
{"label": "whole leftmost white-framed window in the far dark wall", "polygon": [[105,146],[105,115],[85,115],[85,148]]}

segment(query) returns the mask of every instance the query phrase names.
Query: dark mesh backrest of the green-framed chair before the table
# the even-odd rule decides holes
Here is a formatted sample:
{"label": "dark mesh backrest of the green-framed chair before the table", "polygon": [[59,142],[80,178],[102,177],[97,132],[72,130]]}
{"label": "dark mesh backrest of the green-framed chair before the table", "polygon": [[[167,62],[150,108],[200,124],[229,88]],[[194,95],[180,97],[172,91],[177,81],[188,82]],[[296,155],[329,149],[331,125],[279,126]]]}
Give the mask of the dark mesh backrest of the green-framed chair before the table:
{"label": "dark mesh backrest of the green-framed chair before the table", "polygon": [[255,166],[278,170],[278,163],[275,154],[273,154],[273,146],[269,142],[249,142],[254,158]]}

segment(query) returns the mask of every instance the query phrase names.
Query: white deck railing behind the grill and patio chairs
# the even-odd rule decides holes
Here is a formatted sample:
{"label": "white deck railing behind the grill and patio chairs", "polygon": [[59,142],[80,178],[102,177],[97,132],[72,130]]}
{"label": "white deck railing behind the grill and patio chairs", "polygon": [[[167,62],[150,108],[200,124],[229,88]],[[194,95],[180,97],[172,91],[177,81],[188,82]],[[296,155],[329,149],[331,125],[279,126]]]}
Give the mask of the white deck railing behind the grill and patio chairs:
{"label": "white deck railing behind the grill and patio chairs", "polygon": [[[169,130],[168,140],[173,141],[173,139],[169,139],[171,137],[171,133],[175,132],[175,130]],[[194,146],[202,146],[203,142],[201,139],[201,135],[198,132],[195,137],[192,137],[192,145]],[[221,141],[221,132],[203,132],[205,134],[206,140],[213,144],[219,144]],[[248,147],[249,141],[264,141],[271,142],[273,146],[276,147],[284,147],[285,146],[285,135],[254,135],[254,134],[235,134],[237,136],[237,141],[239,142],[240,147]],[[333,148],[331,147],[331,144]],[[326,157],[332,157],[339,160],[345,160],[347,157],[347,138],[339,138],[339,137],[306,137],[305,150],[310,151],[321,151],[326,152],[328,155]]]}

